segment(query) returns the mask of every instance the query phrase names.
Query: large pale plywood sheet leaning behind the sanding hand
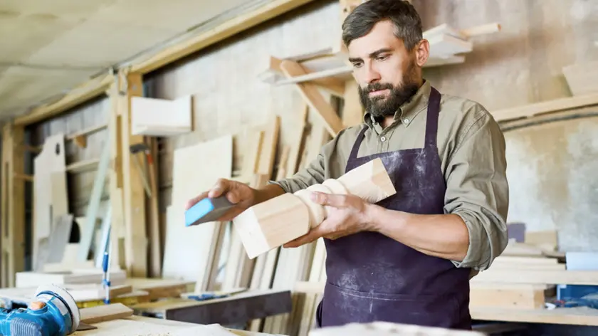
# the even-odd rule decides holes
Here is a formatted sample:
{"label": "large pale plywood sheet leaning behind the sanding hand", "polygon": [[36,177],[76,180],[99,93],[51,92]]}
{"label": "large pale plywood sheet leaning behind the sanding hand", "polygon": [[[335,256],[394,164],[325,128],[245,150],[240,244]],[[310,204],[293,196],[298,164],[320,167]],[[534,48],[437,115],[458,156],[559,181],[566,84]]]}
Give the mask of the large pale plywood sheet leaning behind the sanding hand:
{"label": "large pale plywood sheet leaning behind the sanding hand", "polygon": [[[184,206],[232,172],[232,135],[200,142],[174,151],[172,203],[167,214],[162,277],[203,283],[211,264],[211,246],[217,237],[214,222],[185,227]],[[201,280],[200,280],[201,279]]]}

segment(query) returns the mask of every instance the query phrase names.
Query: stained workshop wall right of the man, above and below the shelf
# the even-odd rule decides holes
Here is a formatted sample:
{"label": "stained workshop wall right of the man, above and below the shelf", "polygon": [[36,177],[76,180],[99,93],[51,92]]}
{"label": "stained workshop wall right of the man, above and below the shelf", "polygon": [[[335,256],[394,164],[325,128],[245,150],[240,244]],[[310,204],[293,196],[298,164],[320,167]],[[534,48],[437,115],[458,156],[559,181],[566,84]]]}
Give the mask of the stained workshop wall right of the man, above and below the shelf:
{"label": "stained workshop wall right of the man, above and below the shelf", "polygon": [[[595,1],[414,1],[424,26],[467,28],[498,22],[502,31],[474,40],[466,62],[426,69],[443,93],[488,110],[571,95],[562,67],[598,59]],[[598,122],[577,119],[505,132],[509,221],[530,230],[558,229],[560,248],[598,246]],[[592,234],[593,233],[593,234]]]}

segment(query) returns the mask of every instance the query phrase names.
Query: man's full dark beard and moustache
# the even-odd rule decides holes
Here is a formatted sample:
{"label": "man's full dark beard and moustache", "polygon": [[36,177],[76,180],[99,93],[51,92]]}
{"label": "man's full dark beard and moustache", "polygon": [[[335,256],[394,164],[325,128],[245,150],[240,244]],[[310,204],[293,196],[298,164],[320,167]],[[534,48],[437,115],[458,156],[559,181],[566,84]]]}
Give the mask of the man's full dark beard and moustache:
{"label": "man's full dark beard and moustache", "polygon": [[[369,93],[376,90],[389,89],[390,95],[385,97],[369,97]],[[360,101],[364,110],[369,112],[372,117],[387,117],[394,115],[399,107],[409,100],[419,90],[419,84],[407,76],[404,82],[395,87],[389,83],[372,83],[365,88],[360,87]]]}

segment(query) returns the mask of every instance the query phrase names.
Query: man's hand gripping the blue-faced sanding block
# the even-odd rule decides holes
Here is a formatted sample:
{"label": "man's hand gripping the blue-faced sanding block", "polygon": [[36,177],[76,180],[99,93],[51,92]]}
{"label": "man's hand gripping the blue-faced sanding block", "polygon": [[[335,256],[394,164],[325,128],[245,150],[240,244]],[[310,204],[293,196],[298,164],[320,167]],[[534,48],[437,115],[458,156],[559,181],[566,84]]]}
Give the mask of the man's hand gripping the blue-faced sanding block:
{"label": "man's hand gripping the blue-faced sanding block", "polygon": [[225,195],[232,204],[236,206],[226,211],[216,221],[231,221],[238,214],[252,206],[256,200],[256,189],[249,187],[247,184],[232,181],[230,179],[218,179],[214,187],[211,187],[208,191],[204,191],[198,196],[187,201],[185,209],[189,209],[197,202],[205,199],[206,197],[216,198],[218,196]]}

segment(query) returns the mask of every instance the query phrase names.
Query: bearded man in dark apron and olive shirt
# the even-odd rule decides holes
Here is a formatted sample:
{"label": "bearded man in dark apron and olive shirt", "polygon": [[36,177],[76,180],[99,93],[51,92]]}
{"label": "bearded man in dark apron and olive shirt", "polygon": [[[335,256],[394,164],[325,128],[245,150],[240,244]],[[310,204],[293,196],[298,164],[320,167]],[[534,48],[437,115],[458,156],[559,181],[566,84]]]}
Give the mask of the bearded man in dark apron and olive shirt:
{"label": "bearded man in dark apron and olive shirt", "polygon": [[322,147],[315,162],[259,190],[220,180],[189,202],[226,193],[248,206],[338,178],[381,158],[397,194],[367,204],[313,193],[332,206],[325,221],[285,247],[325,238],[325,292],[318,325],[389,322],[470,329],[472,273],[507,243],[505,140],[478,103],[441,95],[422,78],[429,42],[406,1],[369,0],[349,15],[342,37],[360,84],[363,124]]}

